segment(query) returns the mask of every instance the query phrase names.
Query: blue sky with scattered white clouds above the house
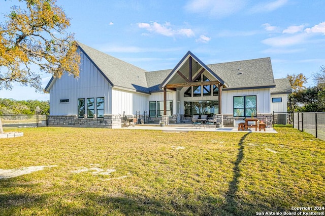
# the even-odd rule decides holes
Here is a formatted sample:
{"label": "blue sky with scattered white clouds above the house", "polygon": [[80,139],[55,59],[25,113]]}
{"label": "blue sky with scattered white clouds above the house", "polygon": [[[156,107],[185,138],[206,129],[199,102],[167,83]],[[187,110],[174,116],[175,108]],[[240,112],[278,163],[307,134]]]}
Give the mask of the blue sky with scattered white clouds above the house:
{"label": "blue sky with scattered white clouds above the house", "polygon": [[[17,1],[0,0],[0,13]],[[148,71],[172,69],[191,51],[205,64],[271,57],[275,78],[325,65],[323,0],[57,0],[85,45]],[[2,16],[0,14],[0,16]],[[2,17],[0,17],[0,20]],[[44,74],[43,87],[51,75]],[[15,84],[0,98],[48,100]]]}

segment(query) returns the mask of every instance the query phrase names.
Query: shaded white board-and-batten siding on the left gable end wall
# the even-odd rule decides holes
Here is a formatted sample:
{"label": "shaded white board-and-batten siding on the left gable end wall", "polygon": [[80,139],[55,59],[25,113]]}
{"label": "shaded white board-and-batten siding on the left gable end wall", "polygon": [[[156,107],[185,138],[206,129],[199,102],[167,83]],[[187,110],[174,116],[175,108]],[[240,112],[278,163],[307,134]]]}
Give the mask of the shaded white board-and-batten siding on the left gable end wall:
{"label": "shaded white board-and-batten siding on the left gable end wall", "polygon": [[[104,114],[111,113],[111,86],[101,72],[81,52],[80,74],[74,78],[63,74],[50,89],[50,115],[77,115],[78,99],[104,97]],[[68,103],[60,100],[69,99]]]}

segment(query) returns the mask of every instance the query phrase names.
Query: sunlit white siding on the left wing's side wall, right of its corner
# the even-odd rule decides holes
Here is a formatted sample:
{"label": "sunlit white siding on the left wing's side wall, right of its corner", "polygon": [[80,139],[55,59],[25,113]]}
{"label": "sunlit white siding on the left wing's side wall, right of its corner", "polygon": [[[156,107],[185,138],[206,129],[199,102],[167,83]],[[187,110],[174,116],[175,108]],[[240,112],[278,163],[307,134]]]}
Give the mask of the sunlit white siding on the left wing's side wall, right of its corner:
{"label": "sunlit white siding on the left wing's side wall, right of its corner", "polygon": [[140,111],[142,115],[144,111],[148,111],[148,107],[147,94],[112,89],[112,114],[123,115],[125,112],[125,115],[136,115]]}

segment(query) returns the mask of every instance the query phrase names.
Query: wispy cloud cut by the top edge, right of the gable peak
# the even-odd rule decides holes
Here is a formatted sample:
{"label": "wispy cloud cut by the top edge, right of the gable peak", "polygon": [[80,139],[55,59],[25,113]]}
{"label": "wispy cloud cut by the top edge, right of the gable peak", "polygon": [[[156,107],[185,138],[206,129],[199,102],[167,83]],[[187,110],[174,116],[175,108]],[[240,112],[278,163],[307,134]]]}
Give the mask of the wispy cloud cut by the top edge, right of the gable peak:
{"label": "wispy cloud cut by the top edge, right of the gable peak", "polygon": [[221,18],[240,11],[245,4],[244,0],[191,0],[186,4],[185,10],[190,13]]}

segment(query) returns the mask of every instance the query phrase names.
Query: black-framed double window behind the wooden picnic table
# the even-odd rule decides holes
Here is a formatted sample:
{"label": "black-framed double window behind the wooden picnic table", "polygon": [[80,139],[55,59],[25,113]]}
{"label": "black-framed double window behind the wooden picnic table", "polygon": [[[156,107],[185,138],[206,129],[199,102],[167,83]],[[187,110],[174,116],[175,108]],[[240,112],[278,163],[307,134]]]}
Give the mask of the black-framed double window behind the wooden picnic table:
{"label": "black-framed double window behind the wooden picnic table", "polygon": [[256,96],[235,96],[234,117],[256,116]]}

